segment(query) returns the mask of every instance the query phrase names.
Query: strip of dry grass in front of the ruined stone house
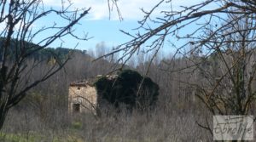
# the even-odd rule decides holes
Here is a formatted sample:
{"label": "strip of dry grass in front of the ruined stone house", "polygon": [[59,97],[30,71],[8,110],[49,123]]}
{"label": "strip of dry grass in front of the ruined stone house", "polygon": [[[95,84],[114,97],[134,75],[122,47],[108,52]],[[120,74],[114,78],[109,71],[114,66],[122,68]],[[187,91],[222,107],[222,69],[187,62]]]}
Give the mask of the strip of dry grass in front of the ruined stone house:
{"label": "strip of dry grass in front of the ruined stone house", "polygon": [[196,121],[201,122],[199,116],[163,111],[154,111],[150,115],[121,113],[102,116],[98,120],[84,114],[56,114],[41,119],[32,110],[29,113],[11,111],[3,133],[15,134],[15,139],[18,134],[20,139],[37,138],[38,141],[211,141],[211,135],[199,128]]}

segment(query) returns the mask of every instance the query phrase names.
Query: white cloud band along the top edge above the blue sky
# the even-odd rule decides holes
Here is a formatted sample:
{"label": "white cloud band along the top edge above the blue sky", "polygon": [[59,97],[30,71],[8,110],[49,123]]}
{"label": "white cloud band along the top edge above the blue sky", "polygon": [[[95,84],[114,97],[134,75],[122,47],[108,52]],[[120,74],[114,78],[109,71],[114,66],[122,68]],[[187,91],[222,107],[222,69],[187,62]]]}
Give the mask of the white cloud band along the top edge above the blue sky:
{"label": "white cloud band along the top edge above the blue sky", "polygon": [[[61,6],[61,0],[56,3],[56,0],[44,0],[47,6]],[[75,8],[89,8],[90,20],[108,19],[108,0],[72,0],[73,7]],[[160,0],[119,0],[119,9],[125,20],[140,20],[143,17],[141,9],[150,10]],[[189,4],[199,3],[201,0],[172,0],[172,7],[179,9],[179,6],[189,6]],[[114,8],[114,7],[113,7]],[[163,9],[170,9],[168,5],[163,4],[157,11]],[[115,9],[111,12],[111,19],[118,20],[118,14]]]}

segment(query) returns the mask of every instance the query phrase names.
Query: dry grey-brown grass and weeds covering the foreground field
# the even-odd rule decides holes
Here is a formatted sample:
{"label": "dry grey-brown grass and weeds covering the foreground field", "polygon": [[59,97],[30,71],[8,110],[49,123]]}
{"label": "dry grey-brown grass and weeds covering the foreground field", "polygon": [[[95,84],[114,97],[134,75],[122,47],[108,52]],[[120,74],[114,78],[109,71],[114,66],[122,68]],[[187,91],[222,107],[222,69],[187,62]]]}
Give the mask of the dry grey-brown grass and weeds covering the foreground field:
{"label": "dry grey-brown grass and weeds covering the foreground field", "polygon": [[[7,122],[5,132],[1,133],[0,140],[7,142],[154,142],[212,139],[211,135],[204,133],[203,129],[195,124],[195,121],[199,120],[198,116],[177,116],[176,114],[170,117],[154,112],[153,116],[120,114],[118,117],[118,119],[108,117],[96,121],[93,117],[85,118],[81,115],[80,121],[78,117],[73,118],[72,122],[67,122],[67,126],[59,126],[59,122],[45,126],[42,122],[10,121],[11,123]],[[25,116],[23,118],[25,119]],[[9,128],[11,126],[16,126],[16,128]],[[20,130],[19,128],[26,129]]]}

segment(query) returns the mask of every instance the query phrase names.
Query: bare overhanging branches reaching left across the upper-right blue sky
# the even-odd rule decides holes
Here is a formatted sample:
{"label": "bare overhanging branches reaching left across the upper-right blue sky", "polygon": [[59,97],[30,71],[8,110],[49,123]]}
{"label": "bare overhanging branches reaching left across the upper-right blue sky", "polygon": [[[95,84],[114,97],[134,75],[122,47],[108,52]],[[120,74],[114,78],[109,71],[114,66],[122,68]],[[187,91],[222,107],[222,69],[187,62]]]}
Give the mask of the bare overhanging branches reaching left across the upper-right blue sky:
{"label": "bare overhanging branches reaching left across the upper-right blue sky", "polygon": [[[256,12],[256,4],[254,1],[221,1],[221,0],[207,0],[202,3],[197,3],[189,7],[182,7],[180,10],[172,9],[172,3],[175,1],[160,0],[160,3],[154,6],[150,11],[143,10],[144,18],[139,21],[139,26],[136,29],[137,33],[132,35],[129,32],[123,31],[126,35],[133,39],[128,42],[119,45],[110,54],[119,51],[125,51],[123,57],[130,58],[132,54],[143,47],[148,47],[148,52],[159,51],[159,48],[163,47],[169,37],[177,40],[183,40],[185,43],[181,46],[175,45],[172,40],[168,41],[172,43],[174,48],[181,50],[189,45],[193,47],[202,48],[207,41],[212,39],[213,35],[218,35],[220,31],[229,30],[235,21],[227,20],[228,14],[238,15],[236,20],[241,20],[247,15],[253,15]],[[152,13],[160,6],[168,4],[170,10],[163,10],[159,16],[154,16]],[[218,5],[218,6],[216,6]],[[166,5],[164,5],[166,6]],[[209,9],[212,8],[212,9]],[[208,10],[206,10],[208,9]],[[150,24],[156,24],[156,27],[151,27]],[[213,25],[212,34],[204,37],[201,36],[201,31],[207,28],[209,25]],[[195,30],[186,33],[185,35],[179,34],[186,26],[195,26]],[[251,30],[254,30],[251,27]],[[236,33],[240,32],[235,31]],[[229,36],[233,32],[227,32],[223,36]],[[219,35],[222,36],[222,35]],[[176,40],[173,40],[176,41]],[[186,42],[187,41],[187,42]],[[189,41],[189,42],[188,42]],[[239,42],[239,41],[237,41]]]}

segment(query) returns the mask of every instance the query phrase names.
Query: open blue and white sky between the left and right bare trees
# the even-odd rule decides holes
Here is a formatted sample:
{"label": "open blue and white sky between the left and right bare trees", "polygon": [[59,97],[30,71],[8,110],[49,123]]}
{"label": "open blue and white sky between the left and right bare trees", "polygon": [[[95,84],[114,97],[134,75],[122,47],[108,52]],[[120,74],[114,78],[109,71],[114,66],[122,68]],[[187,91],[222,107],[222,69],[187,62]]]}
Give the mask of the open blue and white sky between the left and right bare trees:
{"label": "open blue and white sky between the left and right bare trees", "polygon": [[[88,50],[95,48],[97,43],[104,42],[107,47],[117,46],[121,43],[129,41],[129,37],[121,33],[119,30],[131,31],[136,28],[137,20],[143,18],[143,12],[140,9],[149,10],[154,7],[160,0],[119,0],[119,9],[124,20],[119,21],[118,14],[115,9],[111,12],[109,20],[108,0],[72,0],[74,8],[91,8],[90,14],[86,15],[83,20],[76,26],[75,33],[82,35],[88,33],[91,38],[89,41],[79,42],[78,49]],[[189,2],[189,3],[188,3]],[[180,6],[188,6],[190,4],[199,3],[201,0],[173,0],[173,9],[180,9]],[[61,0],[44,0],[47,7],[59,8]],[[169,5],[163,5],[154,13],[159,14],[163,9],[168,9]],[[47,17],[47,21],[55,20],[55,17]],[[44,21],[38,26],[44,26]],[[78,41],[70,41],[68,37],[63,39],[64,48],[74,48]],[[52,47],[58,47],[60,41],[53,43]]]}

